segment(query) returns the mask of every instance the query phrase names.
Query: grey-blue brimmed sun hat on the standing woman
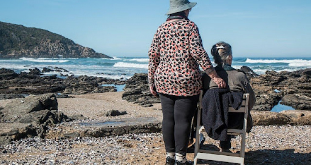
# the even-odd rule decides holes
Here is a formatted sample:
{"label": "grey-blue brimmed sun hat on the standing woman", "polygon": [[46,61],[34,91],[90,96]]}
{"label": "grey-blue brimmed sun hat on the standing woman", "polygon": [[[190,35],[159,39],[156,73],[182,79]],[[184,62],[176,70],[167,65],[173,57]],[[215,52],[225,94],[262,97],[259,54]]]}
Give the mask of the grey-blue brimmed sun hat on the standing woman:
{"label": "grey-blue brimmed sun hat on the standing woman", "polygon": [[191,9],[195,5],[196,2],[190,2],[189,0],[170,0],[170,9],[166,15]]}

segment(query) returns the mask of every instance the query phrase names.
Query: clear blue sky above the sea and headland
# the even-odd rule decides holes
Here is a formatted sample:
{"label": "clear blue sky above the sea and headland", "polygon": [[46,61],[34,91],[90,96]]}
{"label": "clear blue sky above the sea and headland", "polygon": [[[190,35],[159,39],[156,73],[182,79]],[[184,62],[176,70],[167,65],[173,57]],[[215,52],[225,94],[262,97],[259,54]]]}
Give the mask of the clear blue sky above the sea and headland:
{"label": "clear blue sky above the sea and headland", "polygon": [[[311,57],[311,0],[190,0],[203,45],[234,57]],[[169,0],[2,0],[0,21],[61,34],[114,57],[147,57]]]}

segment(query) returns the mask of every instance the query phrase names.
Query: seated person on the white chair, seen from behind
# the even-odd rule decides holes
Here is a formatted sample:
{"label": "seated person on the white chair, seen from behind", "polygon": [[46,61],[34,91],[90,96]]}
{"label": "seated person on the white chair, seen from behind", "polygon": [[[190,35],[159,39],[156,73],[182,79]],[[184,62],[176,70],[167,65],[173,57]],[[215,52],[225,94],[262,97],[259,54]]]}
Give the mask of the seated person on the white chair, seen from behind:
{"label": "seated person on the white chair, seen from behind", "polygon": [[[217,64],[215,70],[217,74],[225,80],[227,87],[231,92],[249,93],[249,110],[255,104],[255,94],[249,84],[249,80],[243,72],[236,71],[231,67],[232,50],[231,46],[225,42],[219,42],[213,45],[211,49],[214,62]],[[206,74],[203,75],[203,89],[218,88],[218,85],[210,79]],[[243,115],[241,113],[229,113],[228,129],[242,129]],[[252,119],[248,113],[247,132],[252,128]],[[221,151],[228,151],[231,148],[230,138],[227,141],[220,141]]]}

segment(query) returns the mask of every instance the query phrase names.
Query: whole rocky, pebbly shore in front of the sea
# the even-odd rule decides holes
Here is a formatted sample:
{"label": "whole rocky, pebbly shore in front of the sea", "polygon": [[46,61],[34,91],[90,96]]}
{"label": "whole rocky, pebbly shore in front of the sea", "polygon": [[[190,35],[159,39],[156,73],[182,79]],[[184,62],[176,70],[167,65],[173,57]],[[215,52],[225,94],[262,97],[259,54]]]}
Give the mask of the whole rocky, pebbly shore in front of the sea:
{"label": "whole rocky, pebbly shore in front of the sea", "polygon": [[[146,74],[128,80],[42,76],[49,69],[66,70],[46,67],[17,74],[0,69],[0,163],[163,164],[161,106],[148,90]],[[311,69],[265,75],[245,66],[240,70],[256,93],[246,164],[310,164]],[[116,90],[120,84],[125,84],[124,91]],[[296,110],[271,112],[279,102]],[[209,138],[204,143],[215,150],[217,146]],[[235,152],[239,143],[232,146]]]}

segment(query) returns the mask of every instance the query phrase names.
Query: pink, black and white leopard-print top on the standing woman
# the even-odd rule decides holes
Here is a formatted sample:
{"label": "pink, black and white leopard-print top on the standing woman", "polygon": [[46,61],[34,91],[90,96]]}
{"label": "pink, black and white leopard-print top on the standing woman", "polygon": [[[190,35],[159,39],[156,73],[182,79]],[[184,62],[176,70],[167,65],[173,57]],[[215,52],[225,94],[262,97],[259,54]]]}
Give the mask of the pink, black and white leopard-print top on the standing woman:
{"label": "pink, black and white leopard-print top on the standing woman", "polygon": [[158,93],[198,95],[202,88],[199,66],[207,73],[214,70],[198,27],[185,19],[163,23],[155,33],[148,56],[148,78],[155,80]]}

